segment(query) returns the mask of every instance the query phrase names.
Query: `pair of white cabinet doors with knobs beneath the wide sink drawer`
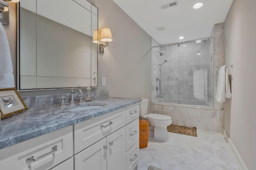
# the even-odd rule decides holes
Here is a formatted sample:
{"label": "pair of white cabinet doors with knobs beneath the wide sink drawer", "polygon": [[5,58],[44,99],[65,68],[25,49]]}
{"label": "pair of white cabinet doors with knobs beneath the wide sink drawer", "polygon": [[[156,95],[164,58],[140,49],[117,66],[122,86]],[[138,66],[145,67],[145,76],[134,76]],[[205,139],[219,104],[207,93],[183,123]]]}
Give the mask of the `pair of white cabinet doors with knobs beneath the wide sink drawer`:
{"label": "pair of white cabinet doors with knobs beneath the wide sink drawer", "polygon": [[123,170],[125,167],[125,127],[74,156],[75,170]]}

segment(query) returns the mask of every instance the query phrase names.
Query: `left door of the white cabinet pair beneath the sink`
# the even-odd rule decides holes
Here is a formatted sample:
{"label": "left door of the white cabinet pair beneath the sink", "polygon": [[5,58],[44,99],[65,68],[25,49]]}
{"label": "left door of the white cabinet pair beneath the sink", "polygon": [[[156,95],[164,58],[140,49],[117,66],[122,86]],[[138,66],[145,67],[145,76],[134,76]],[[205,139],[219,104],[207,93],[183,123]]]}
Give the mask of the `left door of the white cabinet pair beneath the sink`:
{"label": "left door of the white cabinet pair beneath the sink", "polygon": [[98,141],[74,156],[75,170],[106,170],[107,150],[104,149],[106,138]]}

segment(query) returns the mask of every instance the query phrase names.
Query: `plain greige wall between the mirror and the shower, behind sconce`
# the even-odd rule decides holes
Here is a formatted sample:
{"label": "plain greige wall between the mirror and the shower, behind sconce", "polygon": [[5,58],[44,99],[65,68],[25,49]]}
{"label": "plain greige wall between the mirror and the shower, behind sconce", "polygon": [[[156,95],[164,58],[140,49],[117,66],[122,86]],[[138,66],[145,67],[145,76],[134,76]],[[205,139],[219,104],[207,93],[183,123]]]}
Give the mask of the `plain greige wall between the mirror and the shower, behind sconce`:
{"label": "plain greige wall between the mirror and the shower, behind sconce", "polygon": [[[91,0],[98,7],[99,29],[110,27],[113,41],[98,55],[99,89],[109,96],[148,98],[150,111],[151,37],[112,0]],[[101,86],[106,77],[106,87]]]}

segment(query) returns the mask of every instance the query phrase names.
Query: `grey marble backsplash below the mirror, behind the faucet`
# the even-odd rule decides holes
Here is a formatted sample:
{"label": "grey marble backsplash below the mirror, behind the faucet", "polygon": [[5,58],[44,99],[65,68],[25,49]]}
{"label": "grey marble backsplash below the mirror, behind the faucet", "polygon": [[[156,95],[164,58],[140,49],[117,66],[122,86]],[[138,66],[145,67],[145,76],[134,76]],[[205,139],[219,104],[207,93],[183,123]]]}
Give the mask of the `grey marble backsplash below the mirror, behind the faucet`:
{"label": "grey marble backsplash below the mirror, behind the faucet", "polygon": [[[26,97],[22,97],[22,99],[29,109],[34,109],[34,108],[38,108],[38,107],[58,105],[58,104],[60,104],[59,97],[61,97],[61,96],[66,97],[64,100],[65,103],[70,103],[70,100],[71,100],[70,93],[53,94],[53,95],[45,95],[45,96],[26,96]],[[86,92],[84,92],[84,96],[86,96]],[[93,99],[108,98],[108,90],[92,91],[90,96]],[[74,101],[76,102],[77,99],[78,99],[78,93],[75,93]]]}

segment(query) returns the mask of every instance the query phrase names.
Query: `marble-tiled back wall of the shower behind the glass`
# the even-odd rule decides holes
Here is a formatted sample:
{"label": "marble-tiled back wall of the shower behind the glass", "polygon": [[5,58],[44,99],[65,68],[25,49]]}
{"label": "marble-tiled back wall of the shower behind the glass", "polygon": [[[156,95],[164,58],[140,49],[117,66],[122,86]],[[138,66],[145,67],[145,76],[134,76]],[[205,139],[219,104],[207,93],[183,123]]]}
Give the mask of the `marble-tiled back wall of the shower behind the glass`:
{"label": "marble-tiled back wall of the shower behind the glass", "polygon": [[[165,55],[160,59],[162,63],[161,88],[163,98],[173,98],[181,100],[204,100],[208,101],[209,95],[213,95],[209,88],[211,74],[210,40],[205,43],[185,43],[183,45],[171,45],[162,47]],[[202,55],[196,55],[201,53]],[[194,89],[194,70],[207,70],[207,78],[202,76],[203,98],[197,98]],[[201,81],[201,79],[200,79]],[[206,81],[206,82],[205,82]],[[205,84],[204,84],[205,83]],[[200,85],[200,84],[198,84]],[[198,86],[196,85],[196,86]],[[206,87],[204,87],[206,85]],[[202,96],[201,95],[201,96]]]}

